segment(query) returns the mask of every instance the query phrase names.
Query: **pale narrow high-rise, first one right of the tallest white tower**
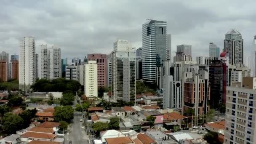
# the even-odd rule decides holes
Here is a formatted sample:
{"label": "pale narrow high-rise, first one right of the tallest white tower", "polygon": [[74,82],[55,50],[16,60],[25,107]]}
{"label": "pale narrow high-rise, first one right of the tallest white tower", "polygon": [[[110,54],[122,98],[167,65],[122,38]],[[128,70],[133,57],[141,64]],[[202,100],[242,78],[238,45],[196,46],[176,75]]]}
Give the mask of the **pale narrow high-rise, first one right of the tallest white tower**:
{"label": "pale narrow high-rise, first one right of the tallest white tower", "polygon": [[39,45],[40,55],[39,55],[39,79],[47,79],[48,76],[48,49],[47,45]]}

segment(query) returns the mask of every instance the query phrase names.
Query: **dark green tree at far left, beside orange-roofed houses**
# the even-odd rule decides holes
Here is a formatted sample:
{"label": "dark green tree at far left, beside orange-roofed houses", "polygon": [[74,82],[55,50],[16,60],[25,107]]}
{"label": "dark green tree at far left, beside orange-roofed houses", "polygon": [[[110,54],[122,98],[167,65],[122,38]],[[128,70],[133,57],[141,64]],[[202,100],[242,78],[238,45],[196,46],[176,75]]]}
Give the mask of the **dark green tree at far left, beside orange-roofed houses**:
{"label": "dark green tree at far left, beside orange-roofed houses", "polygon": [[23,119],[19,115],[14,115],[11,113],[6,113],[3,116],[3,130],[6,133],[16,133],[21,128],[23,124]]}

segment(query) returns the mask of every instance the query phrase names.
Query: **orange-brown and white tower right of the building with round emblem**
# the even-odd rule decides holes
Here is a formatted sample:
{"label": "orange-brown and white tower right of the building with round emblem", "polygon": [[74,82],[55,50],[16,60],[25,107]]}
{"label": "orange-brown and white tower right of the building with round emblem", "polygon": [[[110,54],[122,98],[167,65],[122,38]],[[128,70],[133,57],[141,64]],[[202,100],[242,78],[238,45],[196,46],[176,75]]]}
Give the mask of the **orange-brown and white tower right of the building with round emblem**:
{"label": "orange-brown and white tower right of the building with round emblem", "polygon": [[209,112],[209,100],[210,100],[210,87],[208,85],[208,72],[200,71],[184,72],[182,79],[182,115],[189,108],[195,111],[194,125],[198,125],[198,119],[200,115],[205,115]]}

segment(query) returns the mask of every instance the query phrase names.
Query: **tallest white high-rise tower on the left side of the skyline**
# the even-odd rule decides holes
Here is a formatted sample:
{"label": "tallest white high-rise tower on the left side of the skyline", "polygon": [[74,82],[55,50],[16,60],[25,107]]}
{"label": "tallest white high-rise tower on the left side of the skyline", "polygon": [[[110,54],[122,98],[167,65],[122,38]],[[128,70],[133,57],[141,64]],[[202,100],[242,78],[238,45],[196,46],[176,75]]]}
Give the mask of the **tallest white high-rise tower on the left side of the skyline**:
{"label": "tallest white high-rise tower on the left side of the skyline", "polygon": [[19,85],[28,90],[35,83],[35,38],[24,37],[19,48]]}

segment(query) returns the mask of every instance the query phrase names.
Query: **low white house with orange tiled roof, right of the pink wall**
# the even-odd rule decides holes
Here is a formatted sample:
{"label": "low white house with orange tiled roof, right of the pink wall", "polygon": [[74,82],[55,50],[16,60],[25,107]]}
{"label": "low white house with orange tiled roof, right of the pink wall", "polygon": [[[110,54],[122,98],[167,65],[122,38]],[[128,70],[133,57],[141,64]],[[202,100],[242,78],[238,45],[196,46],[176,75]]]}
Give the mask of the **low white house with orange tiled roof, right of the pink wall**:
{"label": "low white house with orange tiled roof, right of the pink wall", "polygon": [[184,118],[187,118],[183,115],[180,115],[178,112],[165,113],[163,115],[164,127],[166,129],[173,129],[173,126],[178,125],[181,128],[181,123]]}

